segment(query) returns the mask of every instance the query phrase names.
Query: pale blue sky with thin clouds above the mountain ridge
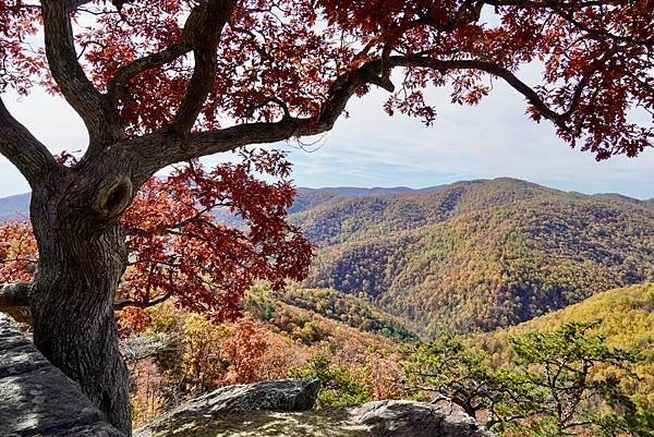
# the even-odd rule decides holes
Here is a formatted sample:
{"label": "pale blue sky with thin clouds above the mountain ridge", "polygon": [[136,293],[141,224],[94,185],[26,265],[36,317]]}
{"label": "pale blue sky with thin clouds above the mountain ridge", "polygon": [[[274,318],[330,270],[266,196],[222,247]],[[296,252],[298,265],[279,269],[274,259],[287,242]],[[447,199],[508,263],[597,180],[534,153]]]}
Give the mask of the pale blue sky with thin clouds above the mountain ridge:
{"label": "pale blue sky with thin clouds above the mountain ridge", "polygon": [[[531,121],[523,98],[502,83],[496,82],[491,96],[475,107],[450,104],[447,89],[429,90],[438,111],[429,128],[416,119],[388,117],[382,108],[385,93],[374,90],[352,100],[350,117],[339,120],[316,145],[276,146],[289,149],[296,185],[424,187],[511,177],[565,191],[654,197],[654,149],[637,158],[597,162],[592,154],[569,148],[548,122]],[[40,90],[27,98],[2,98],[51,151],[86,147],[82,121],[60,98]],[[28,190],[17,170],[0,157],[0,197]]]}

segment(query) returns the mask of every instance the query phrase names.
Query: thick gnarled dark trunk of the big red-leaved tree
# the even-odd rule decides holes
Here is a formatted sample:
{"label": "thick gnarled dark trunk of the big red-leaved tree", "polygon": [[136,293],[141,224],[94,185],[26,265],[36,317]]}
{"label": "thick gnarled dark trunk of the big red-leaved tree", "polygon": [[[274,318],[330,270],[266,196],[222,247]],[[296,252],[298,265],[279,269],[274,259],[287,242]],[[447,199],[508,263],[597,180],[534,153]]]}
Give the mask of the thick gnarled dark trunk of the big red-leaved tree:
{"label": "thick gnarled dark trunk of the big red-leaved tree", "polygon": [[132,187],[120,178],[98,183],[71,174],[33,192],[39,248],[31,303],[34,342],[130,436],[128,371],[118,349],[113,298],[128,263],[119,217]]}

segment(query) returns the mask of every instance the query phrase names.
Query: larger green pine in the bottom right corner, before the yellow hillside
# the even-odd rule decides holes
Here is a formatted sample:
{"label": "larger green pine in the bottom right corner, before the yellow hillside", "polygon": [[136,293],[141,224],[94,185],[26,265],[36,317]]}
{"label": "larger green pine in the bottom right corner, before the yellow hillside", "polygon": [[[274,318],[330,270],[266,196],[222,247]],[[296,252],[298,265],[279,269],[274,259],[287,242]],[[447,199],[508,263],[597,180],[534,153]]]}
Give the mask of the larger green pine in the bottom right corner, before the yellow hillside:
{"label": "larger green pine in the bottom right corner, before the yellow hillside", "polygon": [[[553,332],[528,332],[510,339],[521,380],[531,391],[529,404],[518,404],[525,423],[516,435],[652,436],[652,414],[625,390],[633,377],[638,351],[608,348],[592,333],[595,323],[568,323]],[[610,367],[607,371],[607,367]],[[514,424],[506,426],[516,429]]]}

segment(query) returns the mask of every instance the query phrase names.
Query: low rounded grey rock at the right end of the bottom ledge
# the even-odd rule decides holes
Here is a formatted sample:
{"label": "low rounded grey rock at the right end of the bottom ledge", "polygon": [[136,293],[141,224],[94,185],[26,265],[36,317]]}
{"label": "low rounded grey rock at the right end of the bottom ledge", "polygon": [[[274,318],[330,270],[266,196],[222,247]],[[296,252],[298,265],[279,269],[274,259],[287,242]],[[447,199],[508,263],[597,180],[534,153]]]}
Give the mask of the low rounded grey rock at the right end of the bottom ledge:
{"label": "low rounded grey rock at the right end of the bottom ledge", "polygon": [[411,401],[368,402],[351,411],[351,421],[371,437],[489,437],[460,410]]}

